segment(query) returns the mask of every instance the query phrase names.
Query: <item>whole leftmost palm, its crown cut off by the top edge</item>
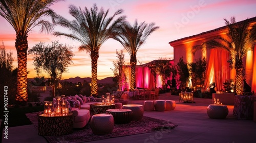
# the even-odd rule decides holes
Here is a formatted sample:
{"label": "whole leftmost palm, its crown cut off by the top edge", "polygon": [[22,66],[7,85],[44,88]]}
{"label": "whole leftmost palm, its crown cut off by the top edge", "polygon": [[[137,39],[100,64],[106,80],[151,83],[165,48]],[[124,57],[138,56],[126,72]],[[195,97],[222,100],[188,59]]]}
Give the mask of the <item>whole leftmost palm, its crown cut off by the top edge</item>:
{"label": "whole leftmost palm, its crown cut off by the top edge", "polygon": [[16,32],[15,47],[18,60],[16,101],[28,100],[28,34],[36,26],[41,26],[40,32],[49,33],[53,30],[53,25],[42,17],[53,16],[55,13],[49,6],[58,1],[60,0],[0,0],[0,15],[11,24]]}

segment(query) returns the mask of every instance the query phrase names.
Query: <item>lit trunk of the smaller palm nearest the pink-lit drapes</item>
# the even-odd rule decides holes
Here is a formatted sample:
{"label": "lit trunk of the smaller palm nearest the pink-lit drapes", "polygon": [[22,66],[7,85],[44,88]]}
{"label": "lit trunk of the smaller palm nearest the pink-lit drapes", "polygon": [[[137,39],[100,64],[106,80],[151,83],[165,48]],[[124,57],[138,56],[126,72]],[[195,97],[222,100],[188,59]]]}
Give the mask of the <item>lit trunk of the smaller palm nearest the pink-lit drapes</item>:
{"label": "lit trunk of the smaller palm nearest the pink-lit drapes", "polygon": [[137,64],[136,56],[131,56],[130,64],[131,64],[131,84],[130,84],[130,89],[133,91],[135,86],[136,86],[136,64]]}

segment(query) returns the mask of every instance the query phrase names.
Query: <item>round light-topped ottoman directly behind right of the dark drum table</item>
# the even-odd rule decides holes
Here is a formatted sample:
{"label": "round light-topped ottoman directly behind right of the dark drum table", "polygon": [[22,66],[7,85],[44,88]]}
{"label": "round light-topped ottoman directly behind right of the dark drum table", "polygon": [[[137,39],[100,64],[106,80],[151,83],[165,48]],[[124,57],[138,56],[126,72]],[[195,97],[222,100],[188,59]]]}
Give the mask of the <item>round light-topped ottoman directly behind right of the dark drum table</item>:
{"label": "round light-topped ottoman directly behind right of the dark drum table", "polygon": [[132,120],[141,120],[144,114],[143,105],[140,104],[126,104],[123,109],[130,109],[133,111]]}

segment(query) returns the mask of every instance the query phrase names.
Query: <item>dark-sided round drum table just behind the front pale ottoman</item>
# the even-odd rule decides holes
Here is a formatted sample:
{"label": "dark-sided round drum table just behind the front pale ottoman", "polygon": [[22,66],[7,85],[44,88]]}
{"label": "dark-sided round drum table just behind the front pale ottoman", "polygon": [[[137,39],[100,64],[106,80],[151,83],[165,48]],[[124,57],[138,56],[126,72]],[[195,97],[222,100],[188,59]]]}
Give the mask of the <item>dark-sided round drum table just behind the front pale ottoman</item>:
{"label": "dark-sided round drum table just behind the front pale ottoman", "polygon": [[115,124],[126,124],[132,121],[133,111],[130,109],[108,109],[106,113],[113,115]]}

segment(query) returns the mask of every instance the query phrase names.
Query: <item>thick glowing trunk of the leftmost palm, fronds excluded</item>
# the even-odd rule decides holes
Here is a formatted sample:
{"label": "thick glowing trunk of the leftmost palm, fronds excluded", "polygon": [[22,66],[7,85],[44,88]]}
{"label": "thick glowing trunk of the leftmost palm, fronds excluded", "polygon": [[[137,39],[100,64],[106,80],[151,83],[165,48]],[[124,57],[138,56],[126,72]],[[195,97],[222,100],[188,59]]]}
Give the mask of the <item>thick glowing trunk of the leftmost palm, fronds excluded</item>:
{"label": "thick glowing trunk of the leftmost palm, fronds excluded", "polygon": [[15,100],[18,102],[28,101],[28,76],[27,76],[27,37],[16,36],[15,47],[17,51],[17,93]]}

